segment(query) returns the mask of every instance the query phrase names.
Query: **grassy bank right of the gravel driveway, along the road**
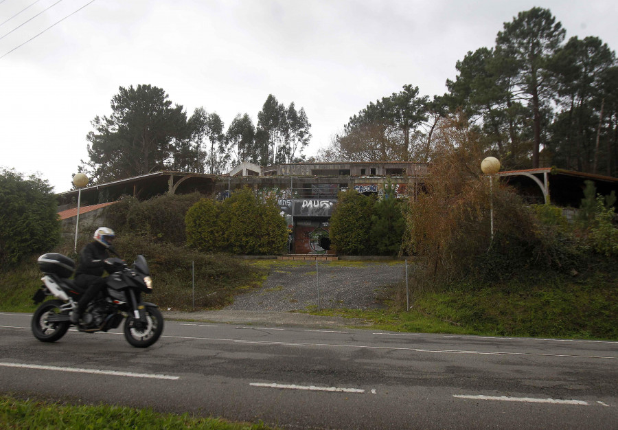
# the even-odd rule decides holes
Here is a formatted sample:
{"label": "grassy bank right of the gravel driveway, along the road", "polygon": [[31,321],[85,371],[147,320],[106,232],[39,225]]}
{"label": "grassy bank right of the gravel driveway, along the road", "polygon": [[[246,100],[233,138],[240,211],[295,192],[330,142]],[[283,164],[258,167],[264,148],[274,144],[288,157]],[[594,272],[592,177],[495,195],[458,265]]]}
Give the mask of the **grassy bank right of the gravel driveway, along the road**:
{"label": "grassy bank right of the gravel driveway, along the road", "polygon": [[374,328],[400,332],[618,341],[617,272],[606,268],[580,277],[530,273],[526,282],[458,285],[445,291],[412,288],[409,312],[406,286],[398,284],[382,297],[385,310],[308,312],[361,318]]}

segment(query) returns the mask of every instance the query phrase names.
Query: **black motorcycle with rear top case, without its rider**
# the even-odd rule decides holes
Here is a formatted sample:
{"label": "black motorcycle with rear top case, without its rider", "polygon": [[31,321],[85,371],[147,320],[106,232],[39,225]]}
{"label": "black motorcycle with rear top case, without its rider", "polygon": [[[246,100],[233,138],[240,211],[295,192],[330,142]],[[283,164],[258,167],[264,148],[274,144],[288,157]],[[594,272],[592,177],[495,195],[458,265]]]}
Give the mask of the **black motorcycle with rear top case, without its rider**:
{"label": "black motorcycle with rear top case, without its rider", "polygon": [[[33,297],[34,302],[41,305],[32,315],[32,333],[42,342],[55,342],[73,325],[69,314],[77,309],[84,290],[69,279],[76,267],[71,258],[60,253],[45,253],[37,262],[43,272],[43,285]],[[87,333],[106,332],[117,328],[126,318],[126,341],[136,348],[148,348],[163,332],[163,315],[156,304],[141,301],[142,293],[152,293],[146,258],[137,256],[132,269],[120,258],[108,258],[105,270],[109,273],[105,287],[88,304],[76,324],[77,329]],[[49,295],[56,299],[45,300]]]}

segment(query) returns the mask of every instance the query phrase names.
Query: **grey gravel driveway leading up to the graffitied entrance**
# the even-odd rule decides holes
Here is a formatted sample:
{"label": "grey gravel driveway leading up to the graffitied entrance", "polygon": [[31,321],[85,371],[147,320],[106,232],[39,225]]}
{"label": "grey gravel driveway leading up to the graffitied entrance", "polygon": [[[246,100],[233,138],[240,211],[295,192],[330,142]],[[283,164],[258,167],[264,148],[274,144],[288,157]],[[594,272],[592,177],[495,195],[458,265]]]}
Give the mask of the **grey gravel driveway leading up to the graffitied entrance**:
{"label": "grey gravel driveway leading up to the graffitied entrance", "polygon": [[405,280],[404,262],[294,262],[275,264],[259,290],[239,295],[225,310],[286,312],[321,308],[382,308],[385,286]]}

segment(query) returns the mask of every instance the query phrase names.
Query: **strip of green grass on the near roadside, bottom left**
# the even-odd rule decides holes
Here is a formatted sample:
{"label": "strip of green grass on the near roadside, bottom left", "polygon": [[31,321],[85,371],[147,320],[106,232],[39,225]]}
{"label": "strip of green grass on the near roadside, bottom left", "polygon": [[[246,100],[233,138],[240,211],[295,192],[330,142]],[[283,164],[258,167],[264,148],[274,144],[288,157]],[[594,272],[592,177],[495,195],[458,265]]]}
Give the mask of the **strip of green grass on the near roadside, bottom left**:
{"label": "strip of green grass on the near roadside, bottom left", "polygon": [[152,409],[69,405],[4,395],[0,396],[0,428],[266,430],[271,427],[190,414],[160,414]]}

